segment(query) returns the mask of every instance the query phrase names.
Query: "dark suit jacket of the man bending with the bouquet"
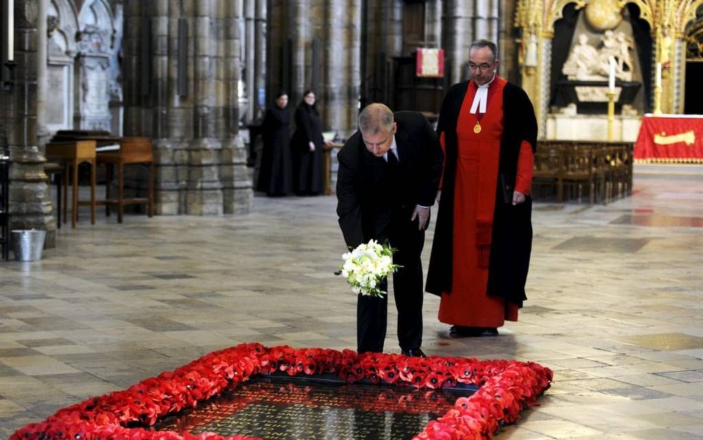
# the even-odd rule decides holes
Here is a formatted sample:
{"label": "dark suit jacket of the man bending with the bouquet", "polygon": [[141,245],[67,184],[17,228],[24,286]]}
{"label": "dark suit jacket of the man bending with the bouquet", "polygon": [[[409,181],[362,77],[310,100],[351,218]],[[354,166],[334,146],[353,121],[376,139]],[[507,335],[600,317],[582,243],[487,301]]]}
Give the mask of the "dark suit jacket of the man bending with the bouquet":
{"label": "dark suit jacket of the man bending with the bouquet", "polygon": [[[357,131],[337,154],[337,215],[347,246],[379,239],[397,215],[432,206],[442,160],[437,133],[420,113],[394,113],[399,156],[397,181],[386,179],[385,160],[373,156]],[[389,152],[389,154],[392,154]]]}

